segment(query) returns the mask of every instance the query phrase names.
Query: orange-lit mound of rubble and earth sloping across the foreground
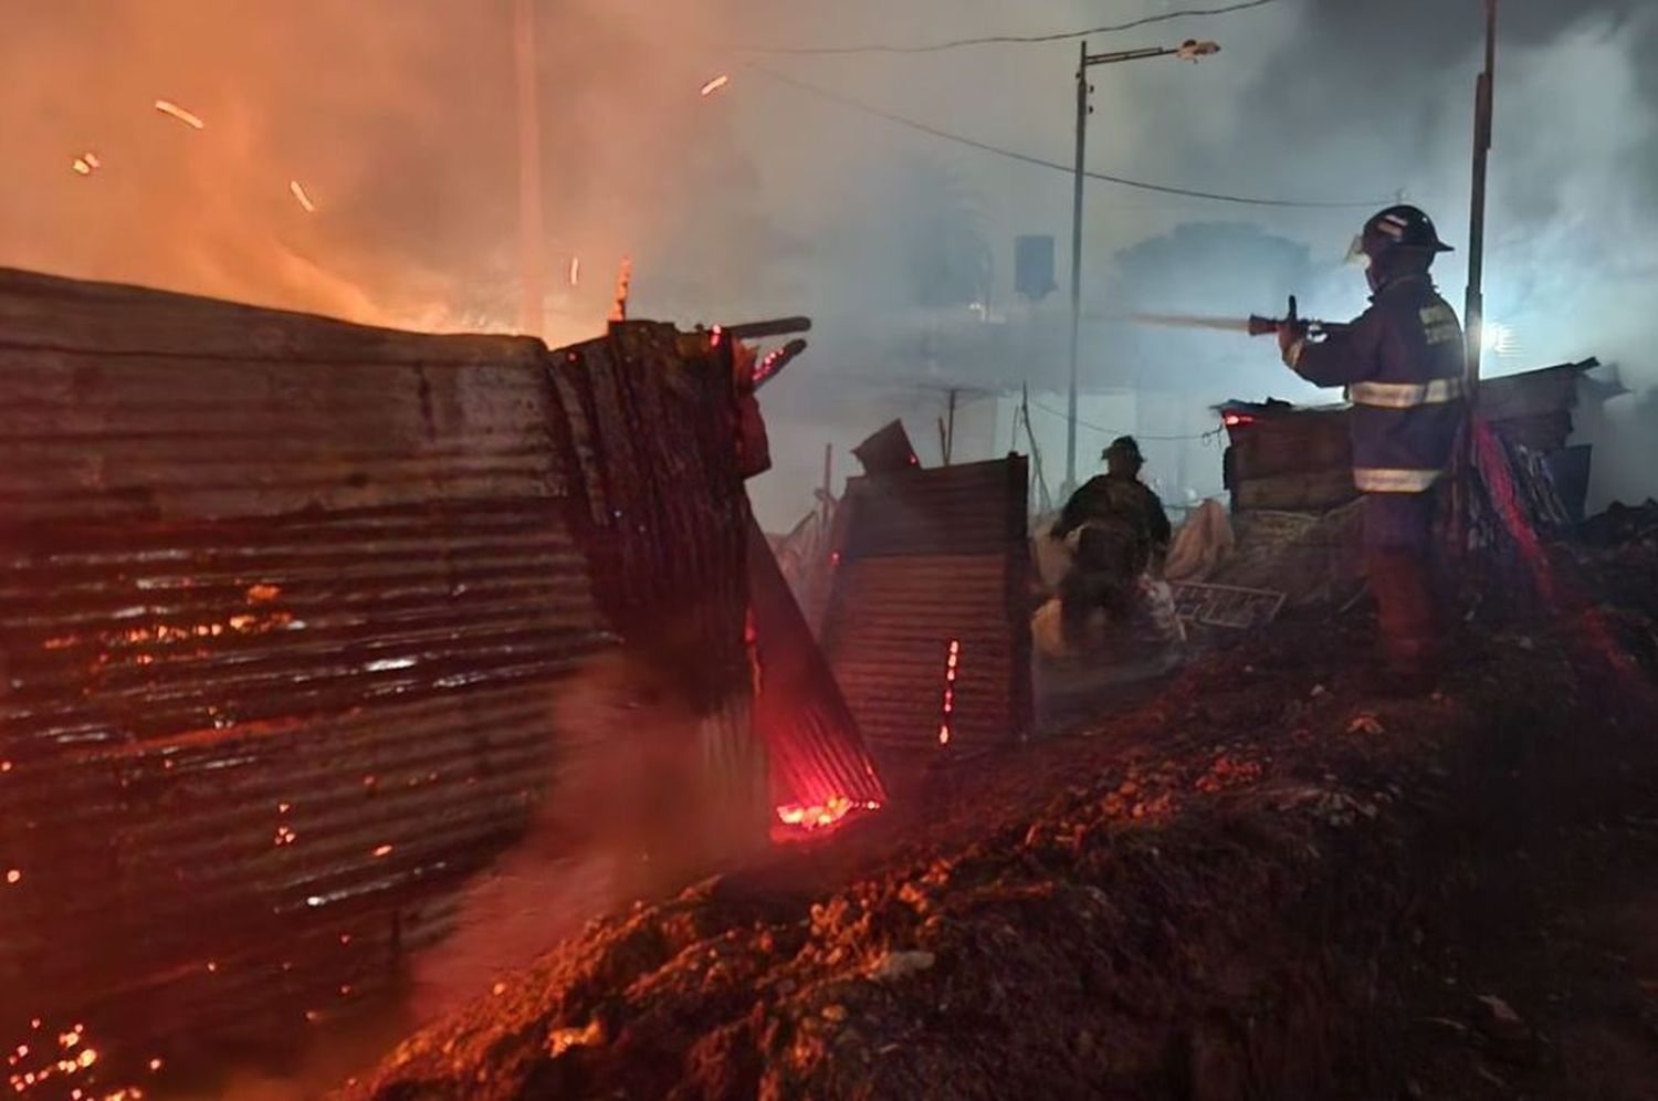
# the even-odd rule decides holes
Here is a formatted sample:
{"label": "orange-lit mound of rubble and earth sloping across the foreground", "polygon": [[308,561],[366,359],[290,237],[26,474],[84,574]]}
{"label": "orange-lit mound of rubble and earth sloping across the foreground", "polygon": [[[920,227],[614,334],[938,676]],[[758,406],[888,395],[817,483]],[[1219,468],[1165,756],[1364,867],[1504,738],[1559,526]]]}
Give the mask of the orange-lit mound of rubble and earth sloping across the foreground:
{"label": "orange-lit mound of rubble and earth sloping across the foreground", "polygon": [[[1640,546],[1578,550],[1597,590]],[[1605,580],[1650,623],[1646,562],[1640,594]],[[1648,701],[1547,625],[1471,632],[1411,701],[1368,630],[1275,623],[930,803],[595,922],[347,1096],[1328,1096],[1447,839],[1539,769],[1593,791],[1651,753]]]}

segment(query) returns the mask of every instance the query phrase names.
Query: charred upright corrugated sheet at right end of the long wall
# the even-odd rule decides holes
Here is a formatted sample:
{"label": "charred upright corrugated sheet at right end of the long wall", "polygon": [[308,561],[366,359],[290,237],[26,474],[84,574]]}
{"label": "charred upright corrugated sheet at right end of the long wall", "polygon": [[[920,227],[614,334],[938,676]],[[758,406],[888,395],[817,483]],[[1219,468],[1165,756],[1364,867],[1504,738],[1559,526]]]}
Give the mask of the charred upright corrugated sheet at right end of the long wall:
{"label": "charred upright corrugated sheet at right end of the long wall", "polygon": [[731,363],[706,337],[628,322],[565,350],[552,376],[589,474],[585,539],[607,617],[705,720],[703,758],[720,778],[705,794],[720,806],[703,817],[733,824],[728,846],[761,839],[771,804],[749,721],[749,507]]}

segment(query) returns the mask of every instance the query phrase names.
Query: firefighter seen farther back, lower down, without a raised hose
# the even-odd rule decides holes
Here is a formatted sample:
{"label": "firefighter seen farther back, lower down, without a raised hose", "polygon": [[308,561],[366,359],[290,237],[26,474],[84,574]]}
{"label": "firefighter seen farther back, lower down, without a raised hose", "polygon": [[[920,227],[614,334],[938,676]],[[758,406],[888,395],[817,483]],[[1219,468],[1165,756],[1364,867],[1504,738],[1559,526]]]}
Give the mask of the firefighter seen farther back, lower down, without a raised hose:
{"label": "firefighter seen farther back, lower down, without a raised hose", "polygon": [[1146,458],[1132,436],[1111,441],[1101,458],[1106,473],[1066,501],[1050,537],[1076,534],[1071,569],[1059,582],[1059,609],[1068,645],[1081,645],[1094,609],[1126,615],[1134,585],[1169,550],[1171,527],[1162,501],[1139,479]]}

